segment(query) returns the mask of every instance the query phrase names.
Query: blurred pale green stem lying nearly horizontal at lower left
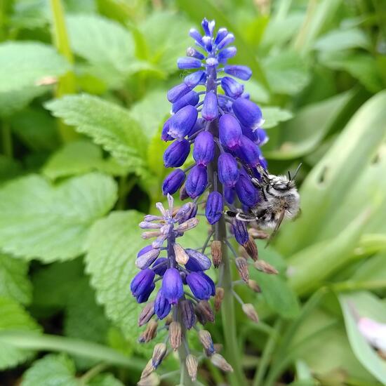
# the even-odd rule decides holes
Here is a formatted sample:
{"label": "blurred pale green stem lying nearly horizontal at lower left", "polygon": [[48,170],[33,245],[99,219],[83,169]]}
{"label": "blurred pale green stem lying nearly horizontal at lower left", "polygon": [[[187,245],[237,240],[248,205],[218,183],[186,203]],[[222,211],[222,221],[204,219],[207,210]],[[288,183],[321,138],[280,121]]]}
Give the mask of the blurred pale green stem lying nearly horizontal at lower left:
{"label": "blurred pale green stem lying nearly horizontal at lower left", "polygon": [[58,335],[27,333],[25,331],[1,331],[0,342],[25,350],[67,352],[79,357],[142,371],[145,361],[135,357],[128,358],[110,347],[86,340],[66,338]]}

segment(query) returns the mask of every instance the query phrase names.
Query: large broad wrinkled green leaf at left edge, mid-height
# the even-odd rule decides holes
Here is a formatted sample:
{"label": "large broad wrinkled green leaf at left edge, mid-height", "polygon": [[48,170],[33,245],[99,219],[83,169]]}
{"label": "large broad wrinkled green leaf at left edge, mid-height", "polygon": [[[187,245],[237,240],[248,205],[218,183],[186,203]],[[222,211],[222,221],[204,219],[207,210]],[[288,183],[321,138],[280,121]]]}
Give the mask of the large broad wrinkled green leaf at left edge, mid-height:
{"label": "large broad wrinkled green leaf at left edge, mid-height", "polygon": [[112,178],[90,173],[60,185],[29,175],[0,189],[0,247],[27,260],[75,258],[88,229],[114,205]]}

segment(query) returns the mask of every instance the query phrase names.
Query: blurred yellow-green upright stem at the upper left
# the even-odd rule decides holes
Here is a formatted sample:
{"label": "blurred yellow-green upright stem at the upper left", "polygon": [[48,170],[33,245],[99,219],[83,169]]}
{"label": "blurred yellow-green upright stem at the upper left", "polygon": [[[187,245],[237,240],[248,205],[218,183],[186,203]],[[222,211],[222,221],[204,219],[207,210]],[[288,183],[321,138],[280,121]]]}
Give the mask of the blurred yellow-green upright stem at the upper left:
{"label": "blurred yellow-green upright stem at the upper left", "polygon": [[[68,60],[68,62],[73,65],[74,55],[72,55],[72,51],[69,46],[65,13],[63,11],[62,2],[61,0],[50,0],[50,4],[53,15],[51,34],[55,47],[58,49],[59,53],[61,53]],[[55,96],[56,98],[60,98],[63,95],[74,93],[76,93],[76,82],[74,72],[71,70],[67,72],[67,74],[60,76],[60,79],[58,79]],[[78,137],[76,131],[65,125],[62,121],[58,121],[58,131],[63,142],[69,142]]]}

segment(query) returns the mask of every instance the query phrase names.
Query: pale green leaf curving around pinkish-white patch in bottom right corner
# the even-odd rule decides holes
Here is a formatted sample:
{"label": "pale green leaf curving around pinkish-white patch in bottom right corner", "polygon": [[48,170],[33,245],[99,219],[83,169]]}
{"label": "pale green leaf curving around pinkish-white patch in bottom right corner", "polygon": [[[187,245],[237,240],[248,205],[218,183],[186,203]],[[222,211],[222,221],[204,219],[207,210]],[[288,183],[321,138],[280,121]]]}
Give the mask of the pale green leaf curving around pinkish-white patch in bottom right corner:
{"label": "pale green leaf curving around pinkish-white patch in bottom right corner", "polygon": [[352,293],[339,295],[340,307],[342,307],[345,325],[352,351],[361,364],[380,382],[386,380],[386,364],[373,348],[368,344],[357,327],[356,315],[375,319],[380,323],[386,323],[386,312],[383,303],[371,293]]}

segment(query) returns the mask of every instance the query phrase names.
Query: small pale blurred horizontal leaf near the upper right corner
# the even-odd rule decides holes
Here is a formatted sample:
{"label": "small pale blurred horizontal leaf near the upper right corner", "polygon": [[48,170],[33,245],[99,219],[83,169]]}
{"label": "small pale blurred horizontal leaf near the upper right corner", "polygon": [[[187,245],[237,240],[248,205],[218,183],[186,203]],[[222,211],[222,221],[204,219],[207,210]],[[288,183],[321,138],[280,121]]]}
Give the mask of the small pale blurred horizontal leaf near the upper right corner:
{"label": "small pale blurred horizontal leaf near the upper right corner", "polygon": [[370,41],[361,29],[334,29],[319,37],[314,48],[319,51],[341,51],[348,48],[369,48]]}

